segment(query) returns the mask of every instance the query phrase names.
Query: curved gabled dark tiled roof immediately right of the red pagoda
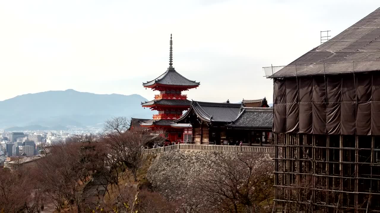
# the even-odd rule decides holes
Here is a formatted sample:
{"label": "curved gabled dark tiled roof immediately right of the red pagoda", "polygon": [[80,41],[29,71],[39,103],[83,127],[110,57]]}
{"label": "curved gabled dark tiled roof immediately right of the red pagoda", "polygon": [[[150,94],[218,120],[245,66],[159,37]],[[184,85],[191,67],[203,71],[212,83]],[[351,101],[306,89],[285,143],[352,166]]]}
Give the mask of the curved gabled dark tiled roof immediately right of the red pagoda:
{"label": "curved gabled dark tiled roof immediately right of the red pagoda", "polygon": [[177,121],[184,119],[190,111],[206,122],[231,122],[240,112],[240,103],[214,103],[192,101],[190,109]]}

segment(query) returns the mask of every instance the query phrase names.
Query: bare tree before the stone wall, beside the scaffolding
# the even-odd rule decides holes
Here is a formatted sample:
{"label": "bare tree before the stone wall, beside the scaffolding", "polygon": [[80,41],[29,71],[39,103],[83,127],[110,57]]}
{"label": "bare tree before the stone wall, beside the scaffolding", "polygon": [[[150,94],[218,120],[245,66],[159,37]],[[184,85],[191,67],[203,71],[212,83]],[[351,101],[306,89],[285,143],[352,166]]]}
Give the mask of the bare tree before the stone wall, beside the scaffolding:
{"label": "bare tree before the stone wall, beside the scaffolding", "polygon": [[273,165],[267,155],[255,153],[223,158],[199,177],[196,189],[206,203],[203,212],[261,212],[273,194]]}

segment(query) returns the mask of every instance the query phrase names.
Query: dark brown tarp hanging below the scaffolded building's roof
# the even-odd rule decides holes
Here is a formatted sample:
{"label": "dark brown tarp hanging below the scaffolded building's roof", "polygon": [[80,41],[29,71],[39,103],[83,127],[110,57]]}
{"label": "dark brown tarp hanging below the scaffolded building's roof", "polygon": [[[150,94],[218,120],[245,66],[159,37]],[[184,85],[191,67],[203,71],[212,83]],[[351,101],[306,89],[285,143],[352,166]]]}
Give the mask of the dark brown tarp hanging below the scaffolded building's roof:
{"label": "dark brown tarp hanging below the scaffolded building's roof", "polygon": [[275,78],[273,111],[278,133],[380,135],[380,74]]}

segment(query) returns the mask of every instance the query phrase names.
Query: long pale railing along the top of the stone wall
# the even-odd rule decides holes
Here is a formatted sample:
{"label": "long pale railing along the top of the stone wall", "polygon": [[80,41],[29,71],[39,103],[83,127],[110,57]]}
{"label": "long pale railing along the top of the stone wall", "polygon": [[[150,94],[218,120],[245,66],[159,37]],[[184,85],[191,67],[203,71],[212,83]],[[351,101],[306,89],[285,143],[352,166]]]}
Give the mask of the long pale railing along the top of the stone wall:
{"label": "long pale railing along the top of the stone wall", "polygon": [[226,146],[226,145],[205,145],[205,144],[175,144],[171,146],[158,147],[153,149],[144,149],[144,153],[161,153],[174,149],[188,150],[214,150],[226,152],[262,152],[274,153],[274,147],[269,146]]}

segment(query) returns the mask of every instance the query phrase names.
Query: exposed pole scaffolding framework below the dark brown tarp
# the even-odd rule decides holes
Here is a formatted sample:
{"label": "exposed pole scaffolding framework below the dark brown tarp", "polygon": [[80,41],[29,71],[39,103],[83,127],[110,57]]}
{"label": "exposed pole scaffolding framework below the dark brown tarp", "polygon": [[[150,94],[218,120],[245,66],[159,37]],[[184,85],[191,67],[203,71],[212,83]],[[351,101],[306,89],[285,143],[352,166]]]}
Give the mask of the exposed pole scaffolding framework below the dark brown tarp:
{"label": "exposed pole scaffolding framework below the dark brown tarp", "polygon": [[275,133],[277,207],[380,212],[380,137]]}

